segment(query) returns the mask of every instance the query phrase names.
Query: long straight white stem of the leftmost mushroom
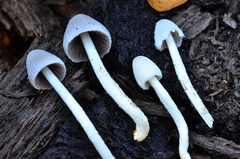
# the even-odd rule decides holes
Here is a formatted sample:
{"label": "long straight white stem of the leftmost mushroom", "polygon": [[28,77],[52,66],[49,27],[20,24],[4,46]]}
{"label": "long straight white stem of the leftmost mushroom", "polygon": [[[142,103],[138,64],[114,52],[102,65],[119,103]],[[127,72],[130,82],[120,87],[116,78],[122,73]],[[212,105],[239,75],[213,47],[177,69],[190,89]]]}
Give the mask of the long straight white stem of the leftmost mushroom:
{"label": "long straight white stem of the leftmost mushroom", "polygon": [[63,101],[67,104],[69,109],[72,111],[73,115],[81,124],[88,138],[91,140],[101,157],[104,159],[114,159],[114,156],[104,143],[101,136],[98,134],[97,130],[95,129],[94,125],[92,124],[82,107],[77,103],[77,101],[58,80],[58,78],[53,74],[53,72],[48,67],[43,68],[41,72],[46,77],[48,82],[53,86],[56,92],[60,95]]}

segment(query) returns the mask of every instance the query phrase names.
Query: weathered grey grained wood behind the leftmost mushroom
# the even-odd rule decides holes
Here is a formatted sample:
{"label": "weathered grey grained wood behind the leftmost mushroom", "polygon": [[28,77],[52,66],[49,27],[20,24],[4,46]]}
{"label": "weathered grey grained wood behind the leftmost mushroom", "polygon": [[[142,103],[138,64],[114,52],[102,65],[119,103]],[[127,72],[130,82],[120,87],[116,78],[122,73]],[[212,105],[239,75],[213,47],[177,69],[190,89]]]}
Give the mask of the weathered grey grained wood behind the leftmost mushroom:
{"label": "weathered grey grained wood behind the leftmost mushroom", "polygon": [[[44,49],[66,61],[59,39],[35,39],[29,50]],[[60,48],[60,49],[59,49]],[[0,83],[0,158],[33,157],[52,138],[58,125],[69,115],[67,106],[54,90],[39,94],[27,79],[27,53]],[[68,74],[74,70],[67,65]],[[79,99],[87,82],[66,77],[63,84]],[[77,90],[76,90],[77,88]],[[76,97],[76,96],[75,96]]]}

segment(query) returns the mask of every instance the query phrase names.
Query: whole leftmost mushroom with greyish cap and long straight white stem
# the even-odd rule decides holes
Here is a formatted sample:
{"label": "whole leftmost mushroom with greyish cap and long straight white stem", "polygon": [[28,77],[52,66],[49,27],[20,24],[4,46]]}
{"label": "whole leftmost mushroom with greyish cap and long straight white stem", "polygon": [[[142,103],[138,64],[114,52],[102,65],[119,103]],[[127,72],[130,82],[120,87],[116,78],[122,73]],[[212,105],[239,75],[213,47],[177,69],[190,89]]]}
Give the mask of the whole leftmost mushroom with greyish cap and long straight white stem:
{"label": "whole leftmost mushroom with greyish cap and long straight white stem", "polygon": [[81,124],[101,157],[114,159],[82,107],[60,82],[66,74],[66,67],[62,60],[47,51],[33,50],[27,56],[26,65],[28,79],[32,86],[36,89],[53,87]]}

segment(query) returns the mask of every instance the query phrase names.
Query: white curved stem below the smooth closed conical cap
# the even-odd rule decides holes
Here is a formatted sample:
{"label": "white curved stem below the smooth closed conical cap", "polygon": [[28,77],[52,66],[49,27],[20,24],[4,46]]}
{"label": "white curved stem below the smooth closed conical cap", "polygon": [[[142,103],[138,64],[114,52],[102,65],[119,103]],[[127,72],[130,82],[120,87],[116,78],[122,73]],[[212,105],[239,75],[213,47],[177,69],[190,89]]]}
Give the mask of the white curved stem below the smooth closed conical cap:
{"label": "white curved stem below the smooth closed conical cap", "polygon": [[148,81],[156,94],[158,95],[160,101],[163,103],[169,114],[172,116],[178,132],[179,132],[179,154],[181,159],[190,159],[190,155],[187,152],[188,149],[188,127],[187,124],[179,111],[177,105],[174,103],[168,92],[164,89],[161,83],[156,77],[151,78]]}

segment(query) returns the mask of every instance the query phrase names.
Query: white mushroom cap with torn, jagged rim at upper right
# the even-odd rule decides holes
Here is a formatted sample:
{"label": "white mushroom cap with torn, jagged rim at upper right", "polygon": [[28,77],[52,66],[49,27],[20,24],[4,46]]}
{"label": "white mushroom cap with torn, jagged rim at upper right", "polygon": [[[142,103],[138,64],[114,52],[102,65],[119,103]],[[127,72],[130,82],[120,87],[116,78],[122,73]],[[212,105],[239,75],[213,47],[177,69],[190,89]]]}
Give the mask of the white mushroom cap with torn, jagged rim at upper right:
{"label": "white mushroom cap with torn, jagged rim at upper right", "polygon": [[184,34],[175,23],[168,19],[162,19],[156,23],[154,31],[154,40],[155,47],[158,50],[162,51],[165,48],[168,48],[166,39],[170,33],[172,34],[177,47],[181,46]]}

